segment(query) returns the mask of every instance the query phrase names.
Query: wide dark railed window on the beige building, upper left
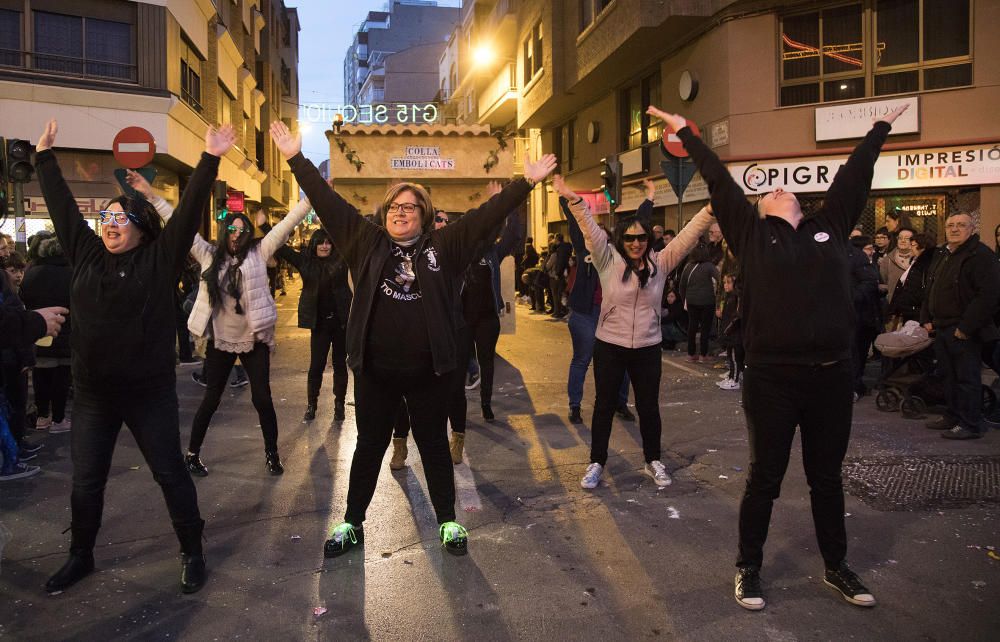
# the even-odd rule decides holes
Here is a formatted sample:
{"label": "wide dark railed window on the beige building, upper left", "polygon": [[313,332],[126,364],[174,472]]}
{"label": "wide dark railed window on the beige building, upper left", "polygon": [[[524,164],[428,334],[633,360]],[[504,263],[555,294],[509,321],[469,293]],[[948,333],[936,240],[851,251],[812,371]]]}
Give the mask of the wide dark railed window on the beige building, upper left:
{"label": "wide dark railed window on the beige building, upper left", "polygon": [[132,25],[34,12],[34,68],[134,82]]}

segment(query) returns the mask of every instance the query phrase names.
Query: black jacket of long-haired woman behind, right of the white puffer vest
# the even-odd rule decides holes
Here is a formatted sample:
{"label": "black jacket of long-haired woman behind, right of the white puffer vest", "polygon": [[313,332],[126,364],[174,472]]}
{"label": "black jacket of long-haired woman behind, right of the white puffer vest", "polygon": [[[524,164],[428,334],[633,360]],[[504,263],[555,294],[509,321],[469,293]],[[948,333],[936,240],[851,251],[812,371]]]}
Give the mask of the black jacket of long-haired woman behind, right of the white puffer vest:
{"label": "black jacket of long-haired woman behind, right of the white puffer vest", "polygon": [[[275,253],[279,259],[288,261],[295,266],[295,269],[302,275],[302,294],[299,295],[299,327],[316,327],[316,310],[319,305],[319,298],[332,297],[334,313],[340,327],[347,327],[347,315],[351,311],[351,299],[354,297],[351,287],[347,284],[347,264],[344,259],[333,251],[330,257],[321,259],[316,256],[316,248],[309,244],[305,252],[293,250],[287,245],[282,246]],[[326,274],[324,274],[324,272]],[[321,282],[333,284],[333,288],[327,292],[320,292]]]}

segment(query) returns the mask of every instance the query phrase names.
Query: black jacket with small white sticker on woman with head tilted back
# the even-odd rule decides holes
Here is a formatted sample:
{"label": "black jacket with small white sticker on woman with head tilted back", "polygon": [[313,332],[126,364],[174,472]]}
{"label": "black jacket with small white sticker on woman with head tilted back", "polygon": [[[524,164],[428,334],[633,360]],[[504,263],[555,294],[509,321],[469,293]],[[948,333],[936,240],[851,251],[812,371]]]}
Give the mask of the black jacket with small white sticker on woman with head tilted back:
{"label": "black jacket with small white sticker on woman with head tilted back", "polygon": [[854,310],[848,234],[868,200],[889,124],[877,122],[837,171],[823,206],[798,228],[761,219],[729,170],[685,127],[678,136],[708,183],[715,217],[743,281],[746,362],[817,364],[851,358]]}

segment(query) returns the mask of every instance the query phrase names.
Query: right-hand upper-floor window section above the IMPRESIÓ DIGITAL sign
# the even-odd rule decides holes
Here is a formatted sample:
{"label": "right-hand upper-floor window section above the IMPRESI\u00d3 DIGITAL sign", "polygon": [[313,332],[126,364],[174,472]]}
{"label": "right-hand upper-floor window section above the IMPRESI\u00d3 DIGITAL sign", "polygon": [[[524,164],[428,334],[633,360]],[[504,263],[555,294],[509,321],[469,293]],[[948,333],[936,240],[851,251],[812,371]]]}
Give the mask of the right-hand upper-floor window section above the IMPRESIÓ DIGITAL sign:
{"label": "right-hand upper-floor window section above the IMPRESI\u00d3 DIGITAL sign", "polygon": [[874,95],[972,84],[969,0],[877,0]]}

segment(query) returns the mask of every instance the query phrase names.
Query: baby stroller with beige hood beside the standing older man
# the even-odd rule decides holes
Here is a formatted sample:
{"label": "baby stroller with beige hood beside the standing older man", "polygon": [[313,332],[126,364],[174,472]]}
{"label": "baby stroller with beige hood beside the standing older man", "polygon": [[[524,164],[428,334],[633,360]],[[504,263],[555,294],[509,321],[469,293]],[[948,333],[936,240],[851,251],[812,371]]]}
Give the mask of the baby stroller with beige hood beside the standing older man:
{"label": "baby stroller with beige hood beside the standing older man", "polygon": [[[934,340],[916,321],[875,338],[882,353],[882,376],[875,406],[882,412],[899,411],[907,419],[923,419],[928,406],[947,403],[943,379],[934,372]],[[983,412],[996,405],[996,393],[983,386]]]}

